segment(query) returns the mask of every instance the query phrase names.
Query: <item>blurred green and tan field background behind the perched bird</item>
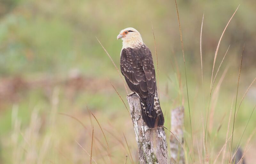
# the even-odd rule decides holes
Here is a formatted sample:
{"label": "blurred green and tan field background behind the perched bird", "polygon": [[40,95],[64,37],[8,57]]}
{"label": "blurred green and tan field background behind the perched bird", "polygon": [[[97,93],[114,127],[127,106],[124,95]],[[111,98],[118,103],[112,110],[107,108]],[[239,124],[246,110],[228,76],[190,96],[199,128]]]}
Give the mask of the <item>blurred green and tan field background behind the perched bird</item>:
{"label": "blurred green and tan field background behind the perched bird", "polygon": [[[116,40],[116,36],[122,29],[134,27],[151,49],[156,67],[151,25],[156,40],[165,126],[170,129],[171,110],[184,105],[186,159],[192,163],[192,156],[196,163],[201,163],[204,110],[207,113],[214,53],[239,4],[221,40],[215,64],[213,75],[230,46],[210,99],[208,157],[209,163],[213,163],[220,153],[217,163],[227,163],[230,151],[233,154],[241,144],[246,162],[253,163],[256,160],[253,135],[256,114],[252,113],[256,102],[256,82],[252,83],[256,77],[256,1],[177,0],[177,4],[187,67],[193,153],[174,0],[1,0],[0,163],[89,163],[86,152],[91,153],[93,127],[92,158],[97,163],[109,163],[104,136],[88,109],[105,133],[113,163],[132,163],[132,159],[136,163],[138,148],[131,118],[110,82],[126,106],[127,93],[96,37],[119,69],[122,41]],[[204,86],[200,59],[203,14]],[[228,138],[232,133],[235,106],[236,110],[240,107],[230,150]],[[165,132],[169,138],[170,133]],[[220,152],[227,139],[226,149]]]}

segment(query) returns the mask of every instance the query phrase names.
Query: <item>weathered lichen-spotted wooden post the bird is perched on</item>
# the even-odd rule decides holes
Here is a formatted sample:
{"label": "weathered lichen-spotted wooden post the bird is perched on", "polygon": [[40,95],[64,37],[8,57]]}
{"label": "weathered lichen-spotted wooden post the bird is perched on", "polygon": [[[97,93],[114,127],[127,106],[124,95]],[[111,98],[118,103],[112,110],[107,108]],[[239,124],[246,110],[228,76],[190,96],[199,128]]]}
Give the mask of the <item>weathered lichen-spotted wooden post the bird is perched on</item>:
{"label": "weathered lichen-spotted wooden post the bird is perched on", "polygon": [[149,129],[141,115],[140,98],[127,96],[135,137],[139,148],[140,164],[170,163],[164,128]]}

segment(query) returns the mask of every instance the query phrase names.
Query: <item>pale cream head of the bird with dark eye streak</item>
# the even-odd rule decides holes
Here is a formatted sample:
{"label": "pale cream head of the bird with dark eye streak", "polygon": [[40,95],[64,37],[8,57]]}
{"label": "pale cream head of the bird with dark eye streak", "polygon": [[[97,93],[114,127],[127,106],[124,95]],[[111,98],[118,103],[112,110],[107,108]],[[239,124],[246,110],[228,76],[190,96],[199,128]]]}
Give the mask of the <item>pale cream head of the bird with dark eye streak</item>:
{"label": "pale cream head of the bird with dark eye streak", "polygon": [[123,48],[135,48],[143,44],[140,32],[132,27],[122,30],[117,36],[117,39],[120,38],[123,40]]}

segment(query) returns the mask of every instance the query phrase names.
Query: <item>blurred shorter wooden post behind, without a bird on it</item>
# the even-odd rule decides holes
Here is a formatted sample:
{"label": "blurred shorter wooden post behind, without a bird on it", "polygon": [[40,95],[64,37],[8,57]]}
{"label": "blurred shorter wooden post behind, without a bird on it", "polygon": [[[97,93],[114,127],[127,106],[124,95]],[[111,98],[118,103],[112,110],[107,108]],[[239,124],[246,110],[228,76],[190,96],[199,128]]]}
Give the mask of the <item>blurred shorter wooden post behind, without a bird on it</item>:
{"label": "blurred shorter wooden post behind, without a bird on it", "polygon": [[184,125],[184,107],[178,107],[172,110],[171,113],[171,132],[179,139],[176,139],[173,134],[170,134],[170,154],[171,160],[174,164],[185,164],[184,150],[182,146],[183,139],[183,125]]}

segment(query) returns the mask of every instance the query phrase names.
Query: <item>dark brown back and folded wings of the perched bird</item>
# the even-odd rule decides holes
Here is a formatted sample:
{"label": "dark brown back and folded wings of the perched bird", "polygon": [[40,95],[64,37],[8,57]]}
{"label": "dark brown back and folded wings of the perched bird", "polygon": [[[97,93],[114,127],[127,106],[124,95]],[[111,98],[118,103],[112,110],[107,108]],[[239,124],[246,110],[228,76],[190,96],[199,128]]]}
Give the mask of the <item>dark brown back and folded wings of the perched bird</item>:
{"label": "dark brown back and folded wings of the perched bird", "polygon": [[120,68],[129,88],[136,92],[143,102],[152,104],[156,93],[156,78],[148,47],[124,48],[121,52]]}

